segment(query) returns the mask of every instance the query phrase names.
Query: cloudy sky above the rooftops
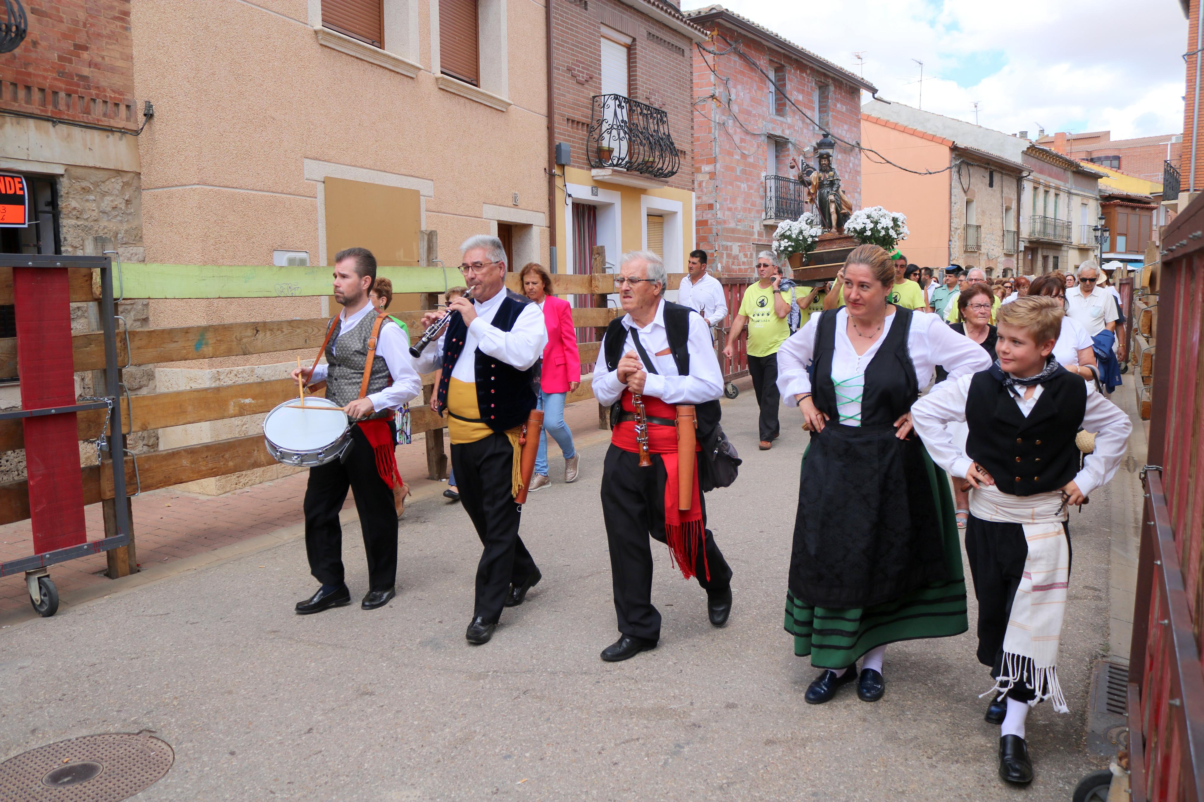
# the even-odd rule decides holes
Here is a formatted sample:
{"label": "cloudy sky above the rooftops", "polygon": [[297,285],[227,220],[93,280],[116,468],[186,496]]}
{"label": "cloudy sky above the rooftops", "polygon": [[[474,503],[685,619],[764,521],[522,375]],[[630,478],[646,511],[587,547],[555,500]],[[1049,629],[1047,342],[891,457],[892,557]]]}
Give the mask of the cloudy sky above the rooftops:
{"label": "cloudy sky above the rooftops", "polygon": [[[683,8],[709,5],[683,0]],[[722,0],[854,72],[881,97],[1007,133],[1179,133],[1187,20],[1178,0]],[[861,53],[864,63],[857,61]]]}

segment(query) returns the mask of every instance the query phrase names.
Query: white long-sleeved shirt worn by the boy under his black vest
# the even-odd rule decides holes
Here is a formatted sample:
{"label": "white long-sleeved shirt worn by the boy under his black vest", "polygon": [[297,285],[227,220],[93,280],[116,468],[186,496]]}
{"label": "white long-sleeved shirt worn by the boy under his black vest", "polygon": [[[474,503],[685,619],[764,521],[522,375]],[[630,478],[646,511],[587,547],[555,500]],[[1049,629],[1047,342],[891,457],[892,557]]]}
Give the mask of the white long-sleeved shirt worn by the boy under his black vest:
{"label": "white long-sleeved shirt worn by the boy under his black vest", "polygon": [[[911,426],[923,440],[932,461],[950,476],[964,477],[974,462],[966,456],[964,446],[958,446],[945,429],[946,423],[966,420],[966,402],[973,378],[943,381],[911,406]],[[1015,390],[1023,392],[1023,387]],[[1044,391],[1044,385],[1037,385],[1032,397],[1027,399],[1016,398],[1013,392],[1016,406],[1025,417],[1033,411]],[[1090,495],[1116,475],[1133,423],[1116,404],[1087,385],[1087,409],[1082,415],[1082,428],[1096,433],[1096,450],[1082,461],[1082,470],[1074,477],[1074,483],[1084,495]]]}

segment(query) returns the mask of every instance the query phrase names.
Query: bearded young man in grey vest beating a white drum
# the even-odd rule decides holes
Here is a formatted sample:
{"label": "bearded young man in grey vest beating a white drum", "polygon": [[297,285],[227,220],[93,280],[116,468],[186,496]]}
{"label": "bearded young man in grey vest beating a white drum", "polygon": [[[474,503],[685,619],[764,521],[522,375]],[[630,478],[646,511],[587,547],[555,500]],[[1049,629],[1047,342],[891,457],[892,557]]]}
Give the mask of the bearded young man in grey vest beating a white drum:
{"label": "bearded young man in grey vest beating a white drum", "polygon": [[[335,301],[343,310],[331,321],[324,345],[326,364],[293,372],[294,381],[326,381],[326,398],[343,406],[352,426],[352,446],[346,461],[336,459],[309,469],[305,493],[305,546],[309,572],[321,583],[318,590],[299,601],[301,616],[350,604],[343,581],[343,531],[338,512],[347,491],[355,491],[364,551],[368,558],[368,592],[360,602],[364,610],[389,604],[395,595],[397,575],[397,513],[394,488],[401,488],[394,451],[394,411],[423,390],[421,379],[409,360],[409,338],[388,315],[373,314],[368,292],[376,281],[376,257],[365,248],[348,248],[335,255]],[[361,392],[367,356],[377,326],[376,352]],[[325,415],[326,412],[312,412]]]}

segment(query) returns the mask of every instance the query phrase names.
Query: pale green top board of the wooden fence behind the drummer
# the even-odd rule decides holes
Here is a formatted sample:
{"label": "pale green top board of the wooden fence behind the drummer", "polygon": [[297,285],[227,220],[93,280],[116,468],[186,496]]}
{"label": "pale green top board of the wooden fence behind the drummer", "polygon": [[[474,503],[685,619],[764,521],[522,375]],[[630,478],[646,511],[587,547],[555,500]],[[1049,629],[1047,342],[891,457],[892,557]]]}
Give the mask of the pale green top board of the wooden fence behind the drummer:
{"label": "pale green top board of the wooden fence behind the drummer", "polygon": [[[380,267],[395,293],[443,292],[464,284],[459,268]],[[126,298],[290,298],[329,296],[331,268],[122,263],[120,287]]]}

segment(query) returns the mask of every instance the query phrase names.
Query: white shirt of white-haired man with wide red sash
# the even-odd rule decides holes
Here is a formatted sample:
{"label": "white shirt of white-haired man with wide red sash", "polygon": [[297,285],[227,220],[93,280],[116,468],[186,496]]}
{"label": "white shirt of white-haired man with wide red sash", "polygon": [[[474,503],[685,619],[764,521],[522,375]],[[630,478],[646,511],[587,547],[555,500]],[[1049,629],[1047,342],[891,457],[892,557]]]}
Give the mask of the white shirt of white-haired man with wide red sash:
{"label": "white shirt of white-haired man with wide red sash", "polygon": [[[644,351],[656,367],[656,373],[653,373],[644,366],[644,372],[648,374],[644,380],[644,396],[660,398],[666,404],[702,404],[724,394],[724,374],[719,370],[715,346],[710,341],[710,328],[701,316],[690,315],[690,334],[686,343],[690,350],[690,373],[685,376],[678,373],[677,362],[669,354],[663,298],[656,307],[656,316],[648,326],[639,328],[631,315],[622,316],[622,325],[627,337],[621,354],[636,351],[638,356],[636,341],[631,338],[631,329],[636,329],[639,333],[639,344],[644,346]],[[643,364],[643,358],[639,362]],[[626,388],[627,385],[619,381],[618,372],[608,370],[606,367],[606,337],[603,337],[598,344],[598,361],[594,366],[594,397],[603,406],[609,406],[619,400]]]}

